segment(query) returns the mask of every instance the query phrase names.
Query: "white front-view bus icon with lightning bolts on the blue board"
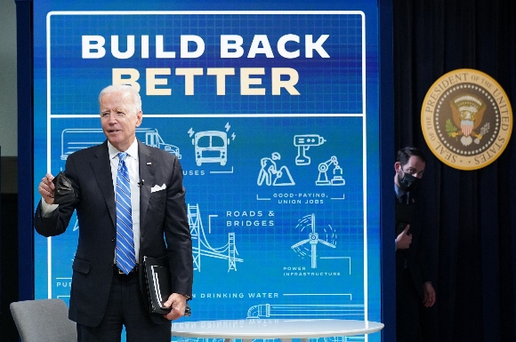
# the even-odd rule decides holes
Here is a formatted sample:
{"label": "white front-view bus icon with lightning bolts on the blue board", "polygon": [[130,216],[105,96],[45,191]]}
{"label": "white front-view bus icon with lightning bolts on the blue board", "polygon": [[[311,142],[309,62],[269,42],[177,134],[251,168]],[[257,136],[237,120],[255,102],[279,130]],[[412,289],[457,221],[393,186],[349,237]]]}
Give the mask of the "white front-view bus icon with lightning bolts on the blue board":
{"label": "white front-view bus icon with lightning bolts on the blue board", "polygon": [[228,162],[230,139],[225,131],[198,131],[192,144],[198,166],[202,163],[221,163],[224,166]]}

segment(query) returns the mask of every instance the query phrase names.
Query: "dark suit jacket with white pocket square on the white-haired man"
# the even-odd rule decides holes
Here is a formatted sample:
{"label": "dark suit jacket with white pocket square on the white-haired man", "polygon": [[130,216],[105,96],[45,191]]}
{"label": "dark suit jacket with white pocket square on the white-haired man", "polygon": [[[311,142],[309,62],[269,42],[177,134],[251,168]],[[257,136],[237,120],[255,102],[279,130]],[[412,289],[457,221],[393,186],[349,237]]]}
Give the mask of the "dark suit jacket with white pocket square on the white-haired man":
{"label": "dark suit jacket with white pocket square on the white-haired man", "polygon": [[[181,164],[174,155],[138,141],[140,179],[140,260],[143,256],[168,256],[172,290],[191,297],[193,261],[191,236],[182,186]],[[69,318],[86,326],[97,326],[108,305],[116,244],[116,207],[108,142],[69,155],[65,175],[72,181],[78,200],[60,204],[52,217],[35,214],[36,231],[44,236],[64,233],[77,211],[79,238],[73,262]],[[152,187],[165,189],[151,192]],[[165,235],[165,238],[164,238]],[[147,303],[143,272],[142,297]],[[164,322],[161,314],[151,314]]]}

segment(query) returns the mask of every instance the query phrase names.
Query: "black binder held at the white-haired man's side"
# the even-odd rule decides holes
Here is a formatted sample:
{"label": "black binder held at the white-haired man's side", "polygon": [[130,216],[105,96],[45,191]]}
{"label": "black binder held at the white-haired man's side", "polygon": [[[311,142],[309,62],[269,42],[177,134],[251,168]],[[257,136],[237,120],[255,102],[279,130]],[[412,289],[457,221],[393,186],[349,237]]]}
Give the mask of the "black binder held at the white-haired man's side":
{"label": "black binder held at the white-haired man's side", "polygon": [[[149,295],[150,314],[168,314],[172,308],[163,306],[172,294],[168,259],[166,257],[143,257],[143,270]],[[190,314],[191,310],[187,303],[184,315],[189,316]]]}

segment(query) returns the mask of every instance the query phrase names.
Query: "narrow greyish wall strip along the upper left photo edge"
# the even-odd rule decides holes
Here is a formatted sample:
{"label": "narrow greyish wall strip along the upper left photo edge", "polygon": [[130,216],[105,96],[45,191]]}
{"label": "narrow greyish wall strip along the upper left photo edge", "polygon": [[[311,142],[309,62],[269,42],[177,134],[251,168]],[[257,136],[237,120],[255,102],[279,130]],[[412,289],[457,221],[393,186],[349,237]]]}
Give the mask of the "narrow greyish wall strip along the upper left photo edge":
{"label": "narrow greyish wall strip along the upper left photo edge", "polygon": [[0,0],[0,147],[2,156],[18,155],[16,91],[16,4]]}

